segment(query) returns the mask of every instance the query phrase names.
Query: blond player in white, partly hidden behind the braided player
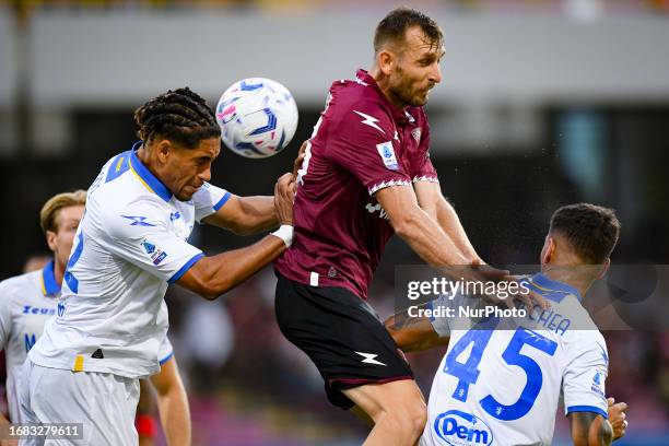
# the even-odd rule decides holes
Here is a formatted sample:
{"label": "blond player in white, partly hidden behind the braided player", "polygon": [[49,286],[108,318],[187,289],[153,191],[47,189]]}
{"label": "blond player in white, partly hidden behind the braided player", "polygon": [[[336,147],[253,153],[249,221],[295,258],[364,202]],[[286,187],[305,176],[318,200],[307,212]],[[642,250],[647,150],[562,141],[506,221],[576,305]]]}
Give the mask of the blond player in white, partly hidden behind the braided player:
{"label": "blond player in white, partly hidden behind the braided player", "polygon": [[[84,190],[58,193],[48,199],[39,212],[39,225],[54,253],[52,259],[43,268],[0,282],[0,348],[5,351],[7,399],[13,423],[22,422],[17,401],[21,366],[42,336],[45,322],[56,313],[68,257],[85,203]],[[167,338],[161,345],[160,357],[161,372],[153,375],[151,382],[156,389],[163,429],[169,445],[188,445],[188,400]],[[7,424],[10,420],[0,414],[0,423]],[[142,420],[144,425],[149,424],[146,416]],[[12,443],[16,444],[15,441],[0,441],[2,446]]]}

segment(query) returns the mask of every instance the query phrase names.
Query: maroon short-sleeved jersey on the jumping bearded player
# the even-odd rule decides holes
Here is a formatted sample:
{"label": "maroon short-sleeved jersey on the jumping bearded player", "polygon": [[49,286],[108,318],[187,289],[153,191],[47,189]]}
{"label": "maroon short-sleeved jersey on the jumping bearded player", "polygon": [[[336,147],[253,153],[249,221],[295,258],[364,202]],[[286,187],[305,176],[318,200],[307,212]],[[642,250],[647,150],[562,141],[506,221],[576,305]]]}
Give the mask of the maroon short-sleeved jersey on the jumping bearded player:
{"label": "maroon short-sleeved jersey on the jumping bearded player", "polygon": [[425,113],[398,110],[359,70],[355,81],[332,84],[309,141],[297,180],[293,245],[275,268],[293,281],[343,286],[366,298],[395,233],[374,193],[437,181]]}

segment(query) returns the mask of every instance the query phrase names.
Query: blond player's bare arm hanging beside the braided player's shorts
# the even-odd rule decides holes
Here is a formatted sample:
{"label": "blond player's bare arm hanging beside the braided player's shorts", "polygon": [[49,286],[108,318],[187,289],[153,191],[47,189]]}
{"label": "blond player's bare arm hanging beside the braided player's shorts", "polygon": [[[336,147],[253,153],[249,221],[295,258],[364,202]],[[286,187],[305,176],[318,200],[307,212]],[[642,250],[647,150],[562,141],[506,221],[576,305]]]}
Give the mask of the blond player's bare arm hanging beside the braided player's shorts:
{"label": "blond player's bare arm hanging beside the braided player's shorts", "polygon": [[172,356],[161,365],[161,372],[151,377],[156,391],[161,424],[169,446],[190,445],[191,425],[188,397]]}

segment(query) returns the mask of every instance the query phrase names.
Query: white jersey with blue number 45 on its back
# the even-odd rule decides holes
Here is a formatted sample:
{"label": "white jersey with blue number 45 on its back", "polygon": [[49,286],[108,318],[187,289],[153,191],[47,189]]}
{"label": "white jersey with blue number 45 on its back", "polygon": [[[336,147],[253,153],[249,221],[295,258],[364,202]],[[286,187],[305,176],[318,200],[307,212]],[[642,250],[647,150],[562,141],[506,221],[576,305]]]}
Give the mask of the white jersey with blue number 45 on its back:
{"label": "white jersey with blue number 45 on its back", "polygon": [[433,320],[450,341],[432,383],[421,445],[551,445],[561,398],[567,414],[607,418],[607,345],[580,295],[543,274],[527,283],[550,301],[549,309],[469,330]]}

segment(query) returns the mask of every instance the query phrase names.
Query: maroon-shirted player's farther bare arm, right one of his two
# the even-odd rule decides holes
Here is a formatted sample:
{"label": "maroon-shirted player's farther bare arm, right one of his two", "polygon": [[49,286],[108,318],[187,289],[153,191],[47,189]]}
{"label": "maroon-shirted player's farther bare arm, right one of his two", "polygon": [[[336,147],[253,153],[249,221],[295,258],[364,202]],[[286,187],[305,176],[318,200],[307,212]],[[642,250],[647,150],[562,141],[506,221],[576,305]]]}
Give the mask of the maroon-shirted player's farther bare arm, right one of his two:
{"label": "maroon-shirted player's farther bare arm, right one of his two", "polygon": [[439,184],[416,181],[413,184],[413,189],[415,190],[415,196],[421,209],[439,224],[442,230],[467,257],[469,263],[476,260],[478,260],[479,263],[484,263],[471,245],[455,209],[442,193]]}

